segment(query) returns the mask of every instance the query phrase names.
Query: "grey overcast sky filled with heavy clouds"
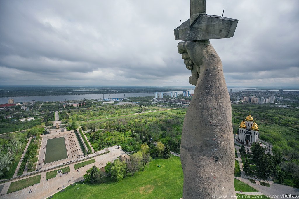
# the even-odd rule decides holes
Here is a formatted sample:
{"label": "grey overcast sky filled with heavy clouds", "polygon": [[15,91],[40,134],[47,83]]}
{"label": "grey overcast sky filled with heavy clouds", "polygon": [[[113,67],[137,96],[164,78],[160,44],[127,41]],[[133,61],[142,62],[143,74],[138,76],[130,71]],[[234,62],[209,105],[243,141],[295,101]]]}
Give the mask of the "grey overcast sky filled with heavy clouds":
{"label": "grey overcast sky filled with heavy clouds", "polygon": [[[298,0],[207,0],[228,86],[298,86]],[[0,85],[188,86],[173,29],[190,1],[0,1]]]}

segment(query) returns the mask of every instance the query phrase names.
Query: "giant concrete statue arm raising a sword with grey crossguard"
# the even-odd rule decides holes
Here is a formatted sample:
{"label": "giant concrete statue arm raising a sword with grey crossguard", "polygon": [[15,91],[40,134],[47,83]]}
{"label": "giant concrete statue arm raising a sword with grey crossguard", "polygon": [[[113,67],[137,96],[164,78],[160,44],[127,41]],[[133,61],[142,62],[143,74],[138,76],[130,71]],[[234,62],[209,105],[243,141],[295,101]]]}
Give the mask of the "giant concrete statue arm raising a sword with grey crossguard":
{"label": "giant concrete statue arm raising a sword with grey crossguard", "polygon": [[205,0],[190,1],[190,19],[174,30],[179,53],[196,85],[181,138],[183,198],[235,195],[231,102],[222,62],[209,39],[234,36],[238,20],[206,14]]}

